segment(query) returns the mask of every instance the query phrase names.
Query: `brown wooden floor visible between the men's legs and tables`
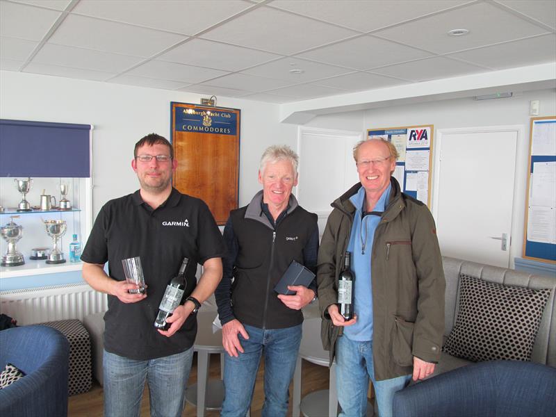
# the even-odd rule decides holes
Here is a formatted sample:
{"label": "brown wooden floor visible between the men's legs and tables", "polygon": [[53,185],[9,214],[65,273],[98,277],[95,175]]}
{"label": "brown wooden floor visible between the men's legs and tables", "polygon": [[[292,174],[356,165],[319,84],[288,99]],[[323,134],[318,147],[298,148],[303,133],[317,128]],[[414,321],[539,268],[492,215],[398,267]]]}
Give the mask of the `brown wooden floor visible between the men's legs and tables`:
{"label": "brown wooden floor visible between the men's legs and tables", "polygon": [[[264,394],[263,394],[263,369],[264,364],[261,363],[259,373],[257,374],[255,392],[251,408],[251,416],[261,416],[261,409],[263,407]],[[220,377],[220,358],[218,355],[211,355],[210,377]],[[197,354],[193,359],[193,368],[189,377],[189,384],[197,382]],[[302,397],[307,393],[318,391],[320,389],[328,389],[328,368],[325,366],[318,366],[308,361],[303,362],[302,367]],[[293,384],[290,387],[290,409],[288,416],[291,416],[291,393]],[[183,411],[183,416],[193,417],[196,415],[196,407],[191,404],[186,404],[186,409]],[[88,393],[73,395],[69,400],[69,416],[70,417],[100,417],[103,414],[103,391],[102,387],[96,382],[93,382],[93,387]],[[149,412],[149,391],[145,388],[143,400],[141,403],[141,417],[150,416]],[[206,417],[220,416],[220,411],[206,411]]]}

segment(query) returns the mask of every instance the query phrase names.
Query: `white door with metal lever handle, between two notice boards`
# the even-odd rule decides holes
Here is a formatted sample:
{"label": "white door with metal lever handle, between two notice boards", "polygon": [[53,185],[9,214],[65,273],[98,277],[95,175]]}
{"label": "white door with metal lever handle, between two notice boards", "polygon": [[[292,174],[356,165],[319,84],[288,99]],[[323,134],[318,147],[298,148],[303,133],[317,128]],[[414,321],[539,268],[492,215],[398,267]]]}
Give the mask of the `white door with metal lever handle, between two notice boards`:
{"label": "white door with metal lever handle, between two notice boards", "polygon": [[516,126],[439,131],[432,212],[443,255],[509,267],[519,133]]}

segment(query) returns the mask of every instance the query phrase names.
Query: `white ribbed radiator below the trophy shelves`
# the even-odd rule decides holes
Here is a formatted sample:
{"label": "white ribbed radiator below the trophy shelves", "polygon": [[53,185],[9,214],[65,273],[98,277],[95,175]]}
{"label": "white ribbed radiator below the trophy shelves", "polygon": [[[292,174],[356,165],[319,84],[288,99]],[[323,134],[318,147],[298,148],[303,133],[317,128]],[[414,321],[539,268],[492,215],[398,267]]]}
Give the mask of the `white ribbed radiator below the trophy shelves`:
{"label": "white ribbed radiator below the trophy shelves", "polygon": [[106,294],[85,283],[0,291],[0,313],[15,318],[18,325],[68,318],[83,320],[89,314],[107,309]]}

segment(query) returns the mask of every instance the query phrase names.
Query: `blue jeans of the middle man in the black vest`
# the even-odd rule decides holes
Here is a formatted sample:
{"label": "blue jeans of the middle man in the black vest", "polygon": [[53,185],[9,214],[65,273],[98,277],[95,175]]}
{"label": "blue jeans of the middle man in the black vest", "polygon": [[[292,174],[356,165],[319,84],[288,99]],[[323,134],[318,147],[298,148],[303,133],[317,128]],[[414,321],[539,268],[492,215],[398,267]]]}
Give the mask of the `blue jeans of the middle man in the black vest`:
{"label": "blue jeans of the middle man in the black vest", "polygon": [[265,403],[262,416],[286,416],[290,396],[288,388],[300,350],[302,325],[286,329],[244,327],[249,338],[246,340],[238,334],[244,352],[238,357],[225,354],[222,417],[243,417],[247,414],[263,353]]}

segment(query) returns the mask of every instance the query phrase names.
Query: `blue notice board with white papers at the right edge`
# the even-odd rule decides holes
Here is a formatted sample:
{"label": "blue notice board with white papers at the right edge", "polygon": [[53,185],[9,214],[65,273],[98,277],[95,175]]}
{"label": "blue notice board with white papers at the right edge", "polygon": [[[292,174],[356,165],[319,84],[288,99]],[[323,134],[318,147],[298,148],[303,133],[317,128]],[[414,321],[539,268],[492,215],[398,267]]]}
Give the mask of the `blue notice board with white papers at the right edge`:
{"label": "blue notice board with white papers at the right edge", "polygon": [[556,116],[532,117],[523,257],[556,263]]}

